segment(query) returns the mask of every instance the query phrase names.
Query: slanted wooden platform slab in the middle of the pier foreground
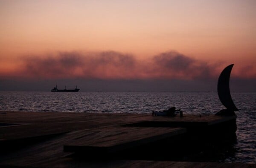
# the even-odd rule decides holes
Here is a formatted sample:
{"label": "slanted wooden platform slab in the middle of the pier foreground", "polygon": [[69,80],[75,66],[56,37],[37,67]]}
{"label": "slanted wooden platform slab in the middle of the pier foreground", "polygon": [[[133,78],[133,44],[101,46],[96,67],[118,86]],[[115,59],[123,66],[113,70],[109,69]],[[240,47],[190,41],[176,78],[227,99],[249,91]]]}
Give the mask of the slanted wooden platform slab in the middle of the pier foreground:
{"label": "slanted wooden platform slab in the middle of the pier foreground", "polygon": [[186,128],[111,127],[81,130],[64,152],[111,154],[186,133]]}

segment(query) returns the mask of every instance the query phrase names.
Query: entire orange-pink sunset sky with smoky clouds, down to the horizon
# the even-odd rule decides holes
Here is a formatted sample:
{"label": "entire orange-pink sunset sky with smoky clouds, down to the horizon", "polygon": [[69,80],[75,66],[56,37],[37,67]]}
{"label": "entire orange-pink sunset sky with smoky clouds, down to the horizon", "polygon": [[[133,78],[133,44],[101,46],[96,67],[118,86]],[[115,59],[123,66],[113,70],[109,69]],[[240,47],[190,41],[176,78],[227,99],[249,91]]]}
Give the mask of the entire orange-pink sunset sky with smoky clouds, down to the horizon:
{"label": "entire orange-pink sunset sky with smoky clouds, down to the horizon", "polygon": [[256,91],[255,0],[0,0],[0,90]]}

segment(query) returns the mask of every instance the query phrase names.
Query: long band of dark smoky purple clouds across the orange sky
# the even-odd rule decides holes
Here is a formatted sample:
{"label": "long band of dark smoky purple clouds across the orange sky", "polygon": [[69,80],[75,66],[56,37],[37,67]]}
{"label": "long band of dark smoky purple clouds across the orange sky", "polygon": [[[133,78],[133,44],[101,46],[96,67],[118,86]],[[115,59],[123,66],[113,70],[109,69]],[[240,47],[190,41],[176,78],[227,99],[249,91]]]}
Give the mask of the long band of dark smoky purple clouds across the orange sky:
{"label": "long band of dark smoky purple clouds across the orange sky", "polygon": [[[224,63],[207,63],[176,51],[164,52],[144,60],[116,51],[58,52],[22,57],[23,65],[12,76],[29,79],[105,79],[105,80],[212,80],[225,67]],[[255,75],[253,66],[234,71],[247,79]],[[7,76],[7,75],[6,75]],[[3,75],[2,75],[3,77]]]}

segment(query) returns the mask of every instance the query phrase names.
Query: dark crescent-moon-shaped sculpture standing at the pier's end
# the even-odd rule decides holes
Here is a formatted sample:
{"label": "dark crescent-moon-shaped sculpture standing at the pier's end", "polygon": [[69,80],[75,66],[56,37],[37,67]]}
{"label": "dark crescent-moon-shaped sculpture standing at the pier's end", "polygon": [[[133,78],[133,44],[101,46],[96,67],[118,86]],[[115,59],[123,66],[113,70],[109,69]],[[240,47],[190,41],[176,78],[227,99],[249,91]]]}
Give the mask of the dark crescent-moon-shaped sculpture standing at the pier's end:
{"label": "dark crescent-moon-shaped sculpture standing at the pier's end", "polygon": [[230,74],[234,64],[228,65],[221,72],[218,78],[218,97],[221,100],[221,103],[228,109],[232,111],[238,111],[236,105],[233,103],[230,94],[229,81]]}

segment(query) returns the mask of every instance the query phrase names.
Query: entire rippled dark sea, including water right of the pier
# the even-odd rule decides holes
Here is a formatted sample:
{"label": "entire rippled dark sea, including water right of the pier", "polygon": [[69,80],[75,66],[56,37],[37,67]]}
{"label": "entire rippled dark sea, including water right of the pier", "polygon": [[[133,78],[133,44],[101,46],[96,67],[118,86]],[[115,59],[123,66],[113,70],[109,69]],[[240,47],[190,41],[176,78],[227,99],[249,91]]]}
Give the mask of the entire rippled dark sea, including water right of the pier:
{"label": "entire rippled dark sea, including water right of the pier", "polygon": [[[239,111],[234,154],[221,162],[256,163],[256,93],[231,93]],[[0,92],[0,111],[148,113],[175,106],[183,114],[215,114],[224,108],[213,93]]]}

